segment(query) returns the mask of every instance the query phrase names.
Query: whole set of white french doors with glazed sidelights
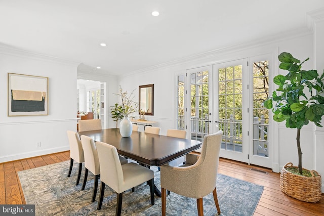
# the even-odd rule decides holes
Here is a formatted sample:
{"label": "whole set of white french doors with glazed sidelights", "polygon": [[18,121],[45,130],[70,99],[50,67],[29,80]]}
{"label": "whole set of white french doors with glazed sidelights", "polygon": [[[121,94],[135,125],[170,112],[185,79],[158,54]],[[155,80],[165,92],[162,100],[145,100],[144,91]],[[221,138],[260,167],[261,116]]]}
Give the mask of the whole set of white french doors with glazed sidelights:
{"label": "whole set of white french doors with glazed sidelights", "polygon": [[269,110],[262,105],[273,77],[270,62],[271,55],[264,55],[189,69],[185,79],[178,76],[178,128],[200,141],[221,129],[221,157],[272,168]]}

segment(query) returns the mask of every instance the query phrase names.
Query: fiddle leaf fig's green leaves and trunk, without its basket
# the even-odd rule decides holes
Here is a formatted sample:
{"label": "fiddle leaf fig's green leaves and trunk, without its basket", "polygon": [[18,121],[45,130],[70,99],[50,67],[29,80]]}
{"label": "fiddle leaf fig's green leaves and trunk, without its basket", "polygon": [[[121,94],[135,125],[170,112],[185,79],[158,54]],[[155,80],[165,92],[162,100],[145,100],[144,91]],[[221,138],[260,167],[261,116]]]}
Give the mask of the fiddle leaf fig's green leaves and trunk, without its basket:
{"label": "fiddle leaf fig's green leaves and trunk, without its basket", "polygon": [[[317,70],[302,70],[302,64],[309,58],[300,63],[290,53],[284,52],[278,59],[281,62],[279,68],[288,70],[288,73],[273,78],[278,89],[263,102],[263,106],[272,109],[273,120],[286,121],[286,127],[297,128],[298,170],[302,175],[300,131],[309,121],[322,127],[320,121],[324,115],[324,97],[321,96],[324,91],[324,72],[319,76]],[[309,96],[305,94],[307,90]]]}

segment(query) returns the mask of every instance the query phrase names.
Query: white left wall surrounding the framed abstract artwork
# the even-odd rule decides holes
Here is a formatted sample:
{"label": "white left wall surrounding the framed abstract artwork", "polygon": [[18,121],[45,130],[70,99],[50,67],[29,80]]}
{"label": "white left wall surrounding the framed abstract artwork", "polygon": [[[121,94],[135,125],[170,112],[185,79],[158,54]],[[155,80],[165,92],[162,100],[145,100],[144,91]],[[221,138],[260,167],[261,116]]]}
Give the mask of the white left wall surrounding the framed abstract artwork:
{"label": "white left wall surrounding the framed abstract artwork", "polygon": [[[69,150],[77,64],[0,47],[0,162]],[[49,77],[49,115],[8,116],[8,73]],[[41,147],[36,147],[41,142]]]}

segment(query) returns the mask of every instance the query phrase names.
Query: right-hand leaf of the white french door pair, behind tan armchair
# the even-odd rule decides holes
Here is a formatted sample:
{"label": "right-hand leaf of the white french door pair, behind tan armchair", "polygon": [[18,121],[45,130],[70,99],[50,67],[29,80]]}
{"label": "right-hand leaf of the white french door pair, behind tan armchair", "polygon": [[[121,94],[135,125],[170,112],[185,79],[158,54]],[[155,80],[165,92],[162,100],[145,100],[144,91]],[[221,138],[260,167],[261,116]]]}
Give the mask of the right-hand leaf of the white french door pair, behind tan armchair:
{"label": "right-hand leaf of the white french door pair, behind tan armchair", "polygon": [[220,156],[249,162],[248,59],[213,65],[213,76],[214,123],[223,131]]}

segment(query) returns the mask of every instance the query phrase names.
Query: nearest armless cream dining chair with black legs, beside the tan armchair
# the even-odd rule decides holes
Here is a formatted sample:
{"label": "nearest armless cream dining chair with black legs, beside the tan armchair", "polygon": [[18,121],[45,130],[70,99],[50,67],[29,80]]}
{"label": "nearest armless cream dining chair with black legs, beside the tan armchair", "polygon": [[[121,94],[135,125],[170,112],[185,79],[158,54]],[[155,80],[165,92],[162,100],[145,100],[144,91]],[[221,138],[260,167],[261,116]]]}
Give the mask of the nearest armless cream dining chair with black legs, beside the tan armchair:
{"label": "nearest armless cream dining chair with black legs, beside the tan armchair", "polygon": [[[117,192],[116,215],[120,215],[123,192],[142,183],[148,183],[151,192],[151,204],[154,205],[154,171],[136,163],[121,165],[117,149],[103,142],[96,142],[100,163],[100,196],[97,209],[100,210],[107,184]],[[133,189],[132,189],[133,191]]]}

